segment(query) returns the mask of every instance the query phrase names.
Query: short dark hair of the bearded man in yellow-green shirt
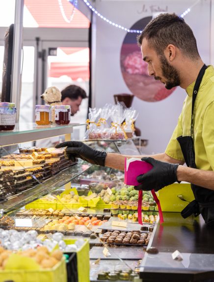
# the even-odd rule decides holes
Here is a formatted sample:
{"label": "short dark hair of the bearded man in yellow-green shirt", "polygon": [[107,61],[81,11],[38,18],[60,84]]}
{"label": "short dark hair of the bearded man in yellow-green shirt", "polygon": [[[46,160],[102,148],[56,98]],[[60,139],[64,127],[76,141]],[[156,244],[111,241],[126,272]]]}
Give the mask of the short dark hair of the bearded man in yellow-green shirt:
{"label": "short dark hair of the bearded man in yellow-green shirt", "polygon": [[160,14],[150,21],[141,34],[137,36],[139,46],[141,46],[143,38],[148,40],[149,46],[155,49],[158,55],[162,55],[164,49],[169,44],[173,44],[187,57],[200,57],[191,28],[182,17],[175,13]]}

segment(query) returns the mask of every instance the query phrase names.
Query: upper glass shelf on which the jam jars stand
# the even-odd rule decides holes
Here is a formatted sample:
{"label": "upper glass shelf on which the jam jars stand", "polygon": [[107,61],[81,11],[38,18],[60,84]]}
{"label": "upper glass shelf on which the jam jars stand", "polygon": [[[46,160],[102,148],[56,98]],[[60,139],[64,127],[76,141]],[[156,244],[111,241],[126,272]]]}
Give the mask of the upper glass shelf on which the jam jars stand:
{"label": "upper glass shelf on which the jam jars stand", "polygon": [[18,123],[13,131],[0,131],[0,146],[24,143],[39,139],[51,138],[73,132],[74,126],[84,124],[70,123],[68,125],[43,125],[36,123]]}

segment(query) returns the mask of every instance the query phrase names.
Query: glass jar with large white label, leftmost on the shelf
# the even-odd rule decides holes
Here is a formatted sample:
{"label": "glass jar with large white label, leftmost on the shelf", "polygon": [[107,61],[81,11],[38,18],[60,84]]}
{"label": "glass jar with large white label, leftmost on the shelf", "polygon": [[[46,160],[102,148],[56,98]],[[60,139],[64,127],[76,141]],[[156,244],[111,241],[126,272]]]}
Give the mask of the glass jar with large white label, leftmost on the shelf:
{"label": "glass jar with large white label, leftmost on the shelf", "polygon": [[0,103],[0,130],[14,130],[16,124],[15,103]]}

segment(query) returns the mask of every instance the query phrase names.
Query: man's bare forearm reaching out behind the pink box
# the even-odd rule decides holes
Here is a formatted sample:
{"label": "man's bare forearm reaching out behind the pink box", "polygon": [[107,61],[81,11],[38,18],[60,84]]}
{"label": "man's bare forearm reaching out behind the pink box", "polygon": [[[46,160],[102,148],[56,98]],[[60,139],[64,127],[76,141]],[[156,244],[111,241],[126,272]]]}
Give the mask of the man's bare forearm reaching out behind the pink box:
{"label": "man's bare forearm reaching out behind the pink box", "polygon": [[[143,158],[143,157],[148,157],[146,155],[137,155],[137,156],[126,156],[126,155],[120,155],[120,154],[111,154],[107,153],[106,161],[105,161],[105,166],[112,168],[112,169],[119,169],[119,170],[124,170],[124,163],[125,163],[125,158]],[[176,164],[180,163],[182,164],[181,161],[172,159],[171,157],[167,156],[165,153],[157,154],[157,155],[151,155],[150,157],[162,161],[162,162],[167,162],[171,164]]]}

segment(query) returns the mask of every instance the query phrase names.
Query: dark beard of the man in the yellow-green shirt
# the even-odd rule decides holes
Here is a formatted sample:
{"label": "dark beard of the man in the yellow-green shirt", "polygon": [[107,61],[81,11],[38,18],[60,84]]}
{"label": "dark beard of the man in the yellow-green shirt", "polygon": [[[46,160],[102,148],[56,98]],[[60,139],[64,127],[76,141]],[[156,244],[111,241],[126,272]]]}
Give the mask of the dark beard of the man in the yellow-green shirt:
{"label": "dark beard of the man in the yellow-green shirt", "polygon": [[[165,82],[165,88],[172,89],[175,86],[179,86],[181,84],[179,73],[173,66],[168,63],[164,55],[160,55],[160,63],[162,75],[167,79]],[[160,80],[160,77],[155,77],[155,79]]]}

